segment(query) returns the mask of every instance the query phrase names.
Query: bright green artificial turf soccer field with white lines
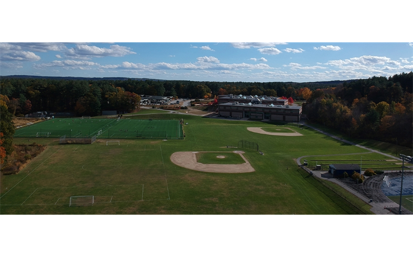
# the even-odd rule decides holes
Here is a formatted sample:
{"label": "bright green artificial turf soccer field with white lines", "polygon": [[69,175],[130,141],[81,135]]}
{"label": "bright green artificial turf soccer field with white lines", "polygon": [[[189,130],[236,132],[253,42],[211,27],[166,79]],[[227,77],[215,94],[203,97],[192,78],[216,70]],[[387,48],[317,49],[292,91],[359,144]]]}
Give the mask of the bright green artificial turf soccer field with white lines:
{"label": "bright green artificial turf soccer field with white lines", "polygon": [[180,120],[56,118],[18,128],[14,137],[183,139]]}

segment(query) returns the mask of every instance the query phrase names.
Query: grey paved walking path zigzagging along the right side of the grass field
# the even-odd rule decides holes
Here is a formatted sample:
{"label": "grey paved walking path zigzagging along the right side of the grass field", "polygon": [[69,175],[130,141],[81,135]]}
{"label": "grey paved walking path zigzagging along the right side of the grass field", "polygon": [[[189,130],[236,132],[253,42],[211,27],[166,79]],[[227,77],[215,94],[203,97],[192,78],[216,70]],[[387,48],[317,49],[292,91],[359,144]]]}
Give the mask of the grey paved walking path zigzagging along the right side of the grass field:
{"label": "grey paved walking path zigzagging along the right side of the grass field", "polygon": [[[382,155],[385,155],[385,156],[388,156],[388,157],[391,157],[391,158],[395,158],[395,159],[398,159],[398,160],[402,160],[402,159],[397,158],[397,157],[395,157],[395,156],[392,156],[392,155],[389,155],[389,154],[385,154],[385,153],[382,153],[382,152],[377,151],[377,150],[369,149],[369,148],[367,148],[367,147],[365,147],[365,146],[362,146],[362,145],[360,145],[360,144],[355,144],[355,143],[350,142],[350,141],[348,141],[348,140],[344,140],[344,139],[342,139],[342,138],[340,138],[340,137],[338,137],[338,136],[331,135],[331,134],[326,133],[326,132],[324,132],[324,131],[322,131],[322,130],[319,130],[319,129],[316,128],[316,127],[310,126],[310,125],[308,125],[308,124],[305,124],[305,123],[300,123],[300,124],[301,124],[301,125],[304,125],[304,126],[307,126],[307,127],[309,127],[309,128],[312,128],[313,130],[316,130],[316,131],[318,131],[318,132],[320,132],[320,133],[323,133],[324,135],[327,135],[327,136],[329,136],[329,137],[335,138],[335,139],[337,139],[337,140],[340,140],[340,141],[342,141],[342,142],[345,142],[345,143],[348,143],[348,144],[351,144],[351,145],[358,146],[359,148],[363,148],[363,149],[369,151],[369,152],[366,152],[366,153],[375,152],[375,153],[379,153],[379,154],[382,154]],[[356,154],[360,154],[360,153],[356,153]],[[364,153],[363,153],[363,154],[364,154]],[[335,155],[351,155],[351,154],[335,154]],[[300,162],[300,160],[301,160],[302,158],[306,158],[306,157],[310,157],[310,156],[314,156],[314,155],[301,156],[301,157],[297,158],[297,164],[301,167],[301,162]],[[317,155],[317,156],[333,156],[333,155]],[[306,168],[305,170],[307,170],[307,172],[309,171],[309,169],[307,169],[307,168]],[[356,195],[357,197],[359,197],[360,199],[362,199],[363,201],[365,201],[366,204],[370,205],[370,206],[371,206],[370,211],[373,212],[373,213],[375,213],[375,214],[378,214],[378,215],[394,215],[394,213],[392,213],[392,212],[390,212],[389,210],[385,209],[385,207],[388,207],[388,206],[391,205],[392,207],[397,207],[397,208],[399,208],[399,205],[398,205],[398,204],[396,204],[396,203],[394,203],[393,201],[390,201],[390,200],[389,200],[389,203],[374,203],[374,202],[370,202],[370,199],[367,199],[364,195],[362,195],[362,194],[360,194],[359,192],[357,192],[357,191],[349,188],[347,185],[345,185],[344,183],[340,182],[338,179],[333,178],[332,175],[329,174],[328,172],[325,172],[325,171],[312,171],[312,175],[313,175],[313,176],[317,176],[317,177],[319,177],[319,178],[321,178],[321,179],[325,179],[325,180],[334,182],[334,183],[336,183],[337,185],[339,185],[339,186],[343,187],[344,189],[346,189],[347,191],[349,191],[350,193],[352,193],[353,195]]]}

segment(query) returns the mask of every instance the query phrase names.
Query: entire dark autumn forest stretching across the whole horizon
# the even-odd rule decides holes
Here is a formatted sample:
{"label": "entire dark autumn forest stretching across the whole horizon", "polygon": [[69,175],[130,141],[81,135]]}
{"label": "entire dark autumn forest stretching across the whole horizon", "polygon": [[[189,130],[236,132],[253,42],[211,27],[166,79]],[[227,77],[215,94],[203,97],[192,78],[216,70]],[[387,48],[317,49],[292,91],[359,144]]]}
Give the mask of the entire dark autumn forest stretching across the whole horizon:
{"label": "entire dark autumn forest stretching across the whole horizon", "polygon": [[413,148],[413,72],[311,83],[0,78],[0,104],[16,117],[37,111],[91,116],[113,109],[134,112],[140,95],[202,99],[226,94],[302,100],[311,122],[350,137]]}

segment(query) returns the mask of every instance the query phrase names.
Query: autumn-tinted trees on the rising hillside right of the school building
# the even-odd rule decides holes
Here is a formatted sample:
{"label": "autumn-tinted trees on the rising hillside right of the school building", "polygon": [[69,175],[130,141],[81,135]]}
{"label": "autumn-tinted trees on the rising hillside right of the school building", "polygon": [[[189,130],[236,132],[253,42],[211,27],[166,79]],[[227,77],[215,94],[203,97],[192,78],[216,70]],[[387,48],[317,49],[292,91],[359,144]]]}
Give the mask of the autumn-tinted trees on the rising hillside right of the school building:
{"label": "autumn-tinted trees on the rising hillside right of the school building", "polygon": [[310,121],[413,148],[413,72],[305,91],[303,113]]}

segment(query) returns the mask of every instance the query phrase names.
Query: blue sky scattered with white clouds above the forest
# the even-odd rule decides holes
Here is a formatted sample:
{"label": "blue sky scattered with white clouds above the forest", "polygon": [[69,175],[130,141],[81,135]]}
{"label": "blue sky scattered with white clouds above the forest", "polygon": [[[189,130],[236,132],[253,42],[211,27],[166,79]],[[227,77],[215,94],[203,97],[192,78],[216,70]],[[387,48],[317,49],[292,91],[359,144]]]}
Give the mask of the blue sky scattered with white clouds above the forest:
{"label": "blue sky scattered with white clouds above the forest", "polygon": [[413,43],[0,43],[0,75],[312,82],[413,70]]}

